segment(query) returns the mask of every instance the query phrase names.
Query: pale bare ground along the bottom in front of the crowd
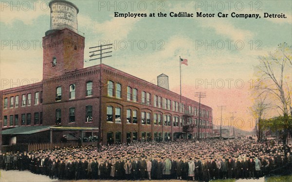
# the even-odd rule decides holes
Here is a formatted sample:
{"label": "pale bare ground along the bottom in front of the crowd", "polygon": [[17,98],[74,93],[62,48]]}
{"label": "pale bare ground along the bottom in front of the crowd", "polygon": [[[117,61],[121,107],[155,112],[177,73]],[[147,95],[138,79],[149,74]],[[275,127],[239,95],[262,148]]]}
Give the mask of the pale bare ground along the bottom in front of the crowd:
{"label": "pale bare ground along the bottom in front of the crowd", "polygon": [[[76,182],[76,181],[62,181],[62,180],[52,180],[48,176],[33,174],[29,171],[3,171],[0,170],[0,182]],[[93,180],[78,180],[77,182],[96,182]],[[102,182],[117,182],[116,180],[111,181],[102,181]],[[127,182],[127,181],[126,181]],[[144,180],[143,182],[148,182]],[[158,180],[152,180],[149,182],[163,182]],[[168,180],[167,182],[182,182],[180,180]],[[216,181],[216,182],[224,182],[224,180]],[[229,181],[230,182],[230,181]],[[236,182],[265,182],[264,178],[260,178],[259,180],[237,180]]]}

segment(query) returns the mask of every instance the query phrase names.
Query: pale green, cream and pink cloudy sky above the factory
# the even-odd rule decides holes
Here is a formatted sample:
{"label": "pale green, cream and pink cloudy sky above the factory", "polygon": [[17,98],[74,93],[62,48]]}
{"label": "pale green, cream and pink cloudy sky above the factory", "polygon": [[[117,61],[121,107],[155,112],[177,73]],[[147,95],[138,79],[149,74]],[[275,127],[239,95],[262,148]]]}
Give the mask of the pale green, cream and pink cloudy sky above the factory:
{"label": "pale green, cream and pink cloudy sky above the factory", "polygon": [[[99,60],[89,60],[89,47],[113,43],[112,57],[104,59],[104,64],[152,83],[164,73],[170,90],[180,93],[181,56],[188,60],[187,66],[182,65],[182,94],[199,101],[195,92],[205,91],[201,103],[213,108],[215,125],[220,118],[218,106],[226,106],[224,125],[234,112],[232,125],[254,128],[249,108],[258,56],[273,52],[279,43],[292,45],[291,0],[69,1],[79,8],[85,67],[99,64]],[[42,80],[41,41],[50,29],[48,3],[0,0],[0,90]],[[193,17],[170,17],[179,12]],[[146,17],[115,17],[115,13]],[[258,17],[240,18],[246,14]],[[267,14],[285,18],[264,18]]]}

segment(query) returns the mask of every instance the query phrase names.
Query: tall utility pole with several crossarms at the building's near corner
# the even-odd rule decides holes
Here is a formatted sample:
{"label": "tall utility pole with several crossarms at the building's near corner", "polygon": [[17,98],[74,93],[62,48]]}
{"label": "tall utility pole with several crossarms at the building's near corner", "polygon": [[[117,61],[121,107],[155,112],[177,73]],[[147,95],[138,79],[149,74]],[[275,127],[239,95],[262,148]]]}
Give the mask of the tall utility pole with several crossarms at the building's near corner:
{"label": "tall utility pole with several crossarms at the building's near corner", "polygon": [[[105,52],[103,53],[102,51],[104,50],[109,50],[109,49],[112,49],[112,47],[108,47],[108,48],[104,48],[104,46],[111,46],[112,44],[106,44],[106,45],[100,45],[100,46],[95,46],[95,47],[90,47],[89,49],[97,49],[97,50],[94,50],[94,51],[91,51],[89,53],[92,53],[92,55],[90,55],[90,57],[93,57],[93,56],[97,56],[99,55],[98,58],[94,58],[94,59],[90,59],[90,61],[93,61],[93,60],[96,60],[96,59],[99,59],[100,60],[100,64],[99,64],[99,122],[98,122],[98,139],[97,139],[97,151],[100,152],[100,149],[101,149],[101,146],[100,146],[100,143],[101,143],[101,121],[102,121],[102,117],[101,117],[101,106],[102,106],[102,101],[101,101],[101,98],[102,98],[102,59],[103,58],[106,58],[106,57],[111,57],[111,55],[108,55],[108,56],[104,56],[104,54],[108,54],[108,53],[112,53],[112,51],[109,51],[109,52]],[[100,52],[100,54],[95,54],[96,52]]]}

